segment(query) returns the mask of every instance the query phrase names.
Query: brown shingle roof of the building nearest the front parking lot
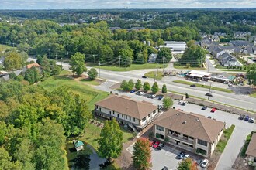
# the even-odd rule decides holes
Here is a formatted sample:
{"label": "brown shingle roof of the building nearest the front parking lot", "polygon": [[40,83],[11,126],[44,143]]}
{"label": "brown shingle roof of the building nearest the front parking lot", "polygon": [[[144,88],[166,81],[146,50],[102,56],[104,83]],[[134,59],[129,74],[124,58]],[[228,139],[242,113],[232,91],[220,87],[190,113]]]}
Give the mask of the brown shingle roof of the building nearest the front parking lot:
{"label": "brown shingle roof of the building nearest the front parking lot", "polygon": [[198,114],[170,109],[154,121],[161,127],[213,143],[224,123]]}

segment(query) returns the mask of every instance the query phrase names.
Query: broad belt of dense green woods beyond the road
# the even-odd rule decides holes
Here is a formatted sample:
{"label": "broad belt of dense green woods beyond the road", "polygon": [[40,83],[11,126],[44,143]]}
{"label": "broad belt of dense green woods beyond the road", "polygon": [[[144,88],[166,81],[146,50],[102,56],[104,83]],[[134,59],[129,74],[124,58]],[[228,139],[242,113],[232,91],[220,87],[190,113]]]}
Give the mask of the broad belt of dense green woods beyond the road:
{"label": "broad belt of dense green woods beyond the road", "polygon": [[[120,61],[121,66],[147,63],[148,55],[157,53],[154,46],[163,44],[164,40],[191,39],[199,39],[199,32],[189,27],[110,32],[106,22],[63,27],[47,20],[25,21],[22,26],[0,22],[0,42],[16,45],[29,55],[46,54],[50,59],[61,59],[79,52],[85,54],[88,62],[116,64]],[[150,41],[151,46],[143,41]]]}

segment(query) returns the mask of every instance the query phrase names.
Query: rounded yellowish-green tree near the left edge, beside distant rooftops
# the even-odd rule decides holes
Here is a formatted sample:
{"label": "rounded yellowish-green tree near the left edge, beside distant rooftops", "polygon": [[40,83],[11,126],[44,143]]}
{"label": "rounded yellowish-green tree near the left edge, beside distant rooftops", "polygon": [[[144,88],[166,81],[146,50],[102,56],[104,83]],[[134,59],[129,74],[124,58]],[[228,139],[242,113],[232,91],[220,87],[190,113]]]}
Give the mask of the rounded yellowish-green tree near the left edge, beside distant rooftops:
{"label": "rounded yellowish-green tree near the left edge, beside distant rooftops", "polygon": [[19,53],[11,52],[5,57],[5,70],[18,70],[22,68],[22,56]]}

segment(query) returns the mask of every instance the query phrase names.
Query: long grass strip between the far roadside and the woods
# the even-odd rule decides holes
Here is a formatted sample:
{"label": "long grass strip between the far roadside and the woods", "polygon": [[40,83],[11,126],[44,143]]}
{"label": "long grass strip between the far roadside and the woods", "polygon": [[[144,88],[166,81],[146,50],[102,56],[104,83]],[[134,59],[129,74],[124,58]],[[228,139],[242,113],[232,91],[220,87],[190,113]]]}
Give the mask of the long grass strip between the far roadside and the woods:
{"label": "long grass strip between the far roadside and the woods", "polygon": [[[88,64],[89,66],[89,64]],[[146,63],[146,64],[132,64],[129,67],[119,67],[119,66],[101,66],[101,69],[111,70],[111,71],[130,71],[130,70],[142,70],[142,69],[156,69],[158,67],[163,68],[162,64],[157,63]],[[164,68],[168,66],[165,65]],[[99,66],[95,66],[95,68],[99,68]]]}

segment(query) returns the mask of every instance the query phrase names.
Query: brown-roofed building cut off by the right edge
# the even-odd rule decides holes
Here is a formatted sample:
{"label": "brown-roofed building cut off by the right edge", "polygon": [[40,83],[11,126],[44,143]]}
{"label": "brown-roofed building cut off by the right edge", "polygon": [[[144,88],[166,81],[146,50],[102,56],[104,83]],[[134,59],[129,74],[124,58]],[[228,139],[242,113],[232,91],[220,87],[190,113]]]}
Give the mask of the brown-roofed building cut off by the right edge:
{"label": "brown-roofed building cut off by the right edge", "polygon": [[252,134],[251,141],[245,153],[248,157],[249,165],[256,167],[256,133]]}

